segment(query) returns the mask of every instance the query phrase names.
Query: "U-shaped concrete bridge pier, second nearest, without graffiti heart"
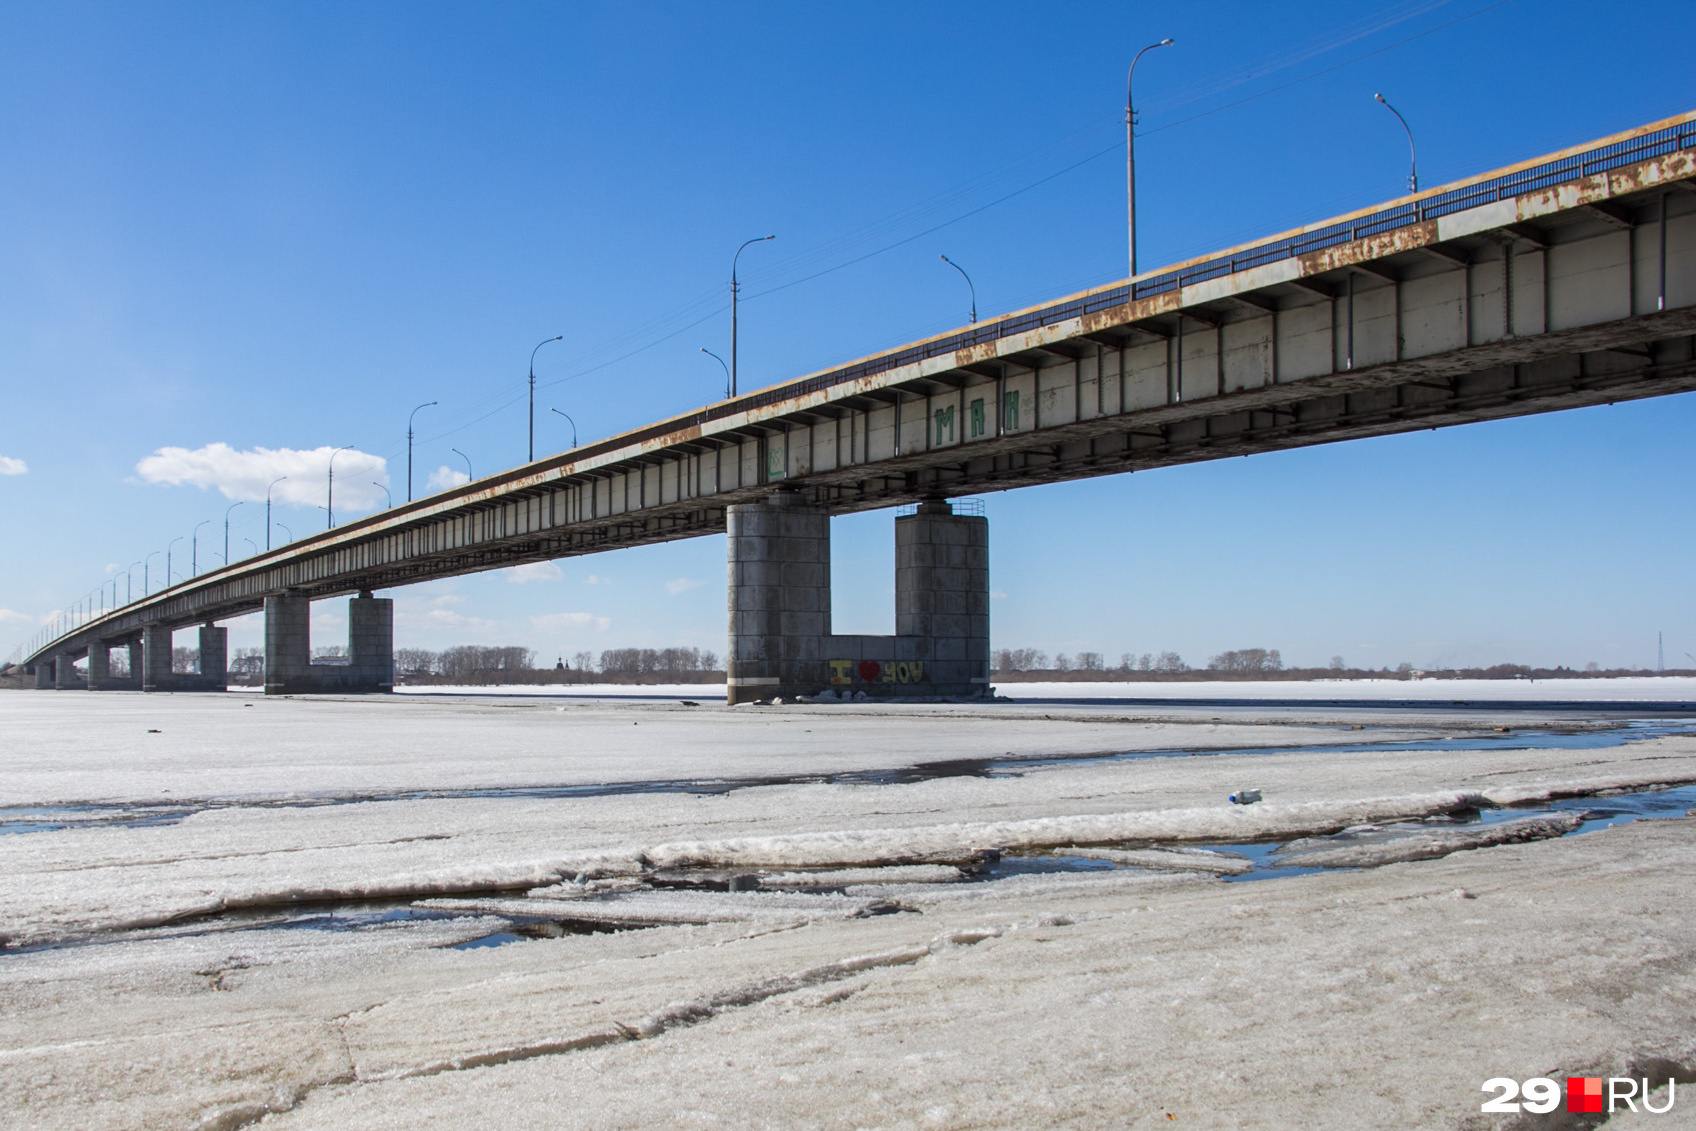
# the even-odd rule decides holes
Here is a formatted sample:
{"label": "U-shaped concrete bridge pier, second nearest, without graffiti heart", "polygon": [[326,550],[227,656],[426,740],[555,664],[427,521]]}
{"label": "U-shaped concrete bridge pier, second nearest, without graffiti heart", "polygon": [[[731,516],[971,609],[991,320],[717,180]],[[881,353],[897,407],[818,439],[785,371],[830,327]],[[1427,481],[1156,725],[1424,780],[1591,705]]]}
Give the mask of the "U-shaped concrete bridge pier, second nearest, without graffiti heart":
{"label": "U-shaped concrete bridge pier, second nearest, without graffiti heart", "polygon": [[361,592],[348,602],[348,663],[312,663],[312,600],[265,599],[265,694],[395,690],[395,602]]}

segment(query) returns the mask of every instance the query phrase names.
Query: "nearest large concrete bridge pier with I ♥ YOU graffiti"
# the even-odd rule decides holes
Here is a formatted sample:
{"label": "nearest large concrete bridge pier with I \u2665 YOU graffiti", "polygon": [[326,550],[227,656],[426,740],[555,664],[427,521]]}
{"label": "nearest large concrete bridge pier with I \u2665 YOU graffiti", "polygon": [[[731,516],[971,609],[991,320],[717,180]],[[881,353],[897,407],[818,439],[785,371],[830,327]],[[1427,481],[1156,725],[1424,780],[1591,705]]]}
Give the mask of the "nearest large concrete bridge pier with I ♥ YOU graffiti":
{"label": "nearest large concrete bridge pier with I \u2665 YOU graffiti", "polygon": [[829,515],[795,492],[729,507],[731,704],[989,695],[989,521],[941,499],[895,519],[895,636],[831,632]]}

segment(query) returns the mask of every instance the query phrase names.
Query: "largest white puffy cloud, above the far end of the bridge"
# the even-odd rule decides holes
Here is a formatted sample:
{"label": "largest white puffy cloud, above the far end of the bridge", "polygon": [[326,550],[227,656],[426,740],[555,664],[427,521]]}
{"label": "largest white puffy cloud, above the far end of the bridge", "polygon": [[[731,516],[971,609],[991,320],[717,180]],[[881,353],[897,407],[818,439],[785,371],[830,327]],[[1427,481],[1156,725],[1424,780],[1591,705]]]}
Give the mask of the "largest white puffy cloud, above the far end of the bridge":
{"label": "largest white puffy cloud, above the far end of the bridge", "polygon": [[[136,465],[148,483],[180,487],[215,487],[226,499],[265,502],[273,480],[271,499],[283,504],[321,507],[329,495],[329,460],[334,448],[253,448],[236,451],[229,444],[204,448],[159,448]],[[287,476],[287,478],[283,478]],[[383,502],[378,483],[388,483],[388,463],[358,448],[336,454],[336,507],[370,510]]]}

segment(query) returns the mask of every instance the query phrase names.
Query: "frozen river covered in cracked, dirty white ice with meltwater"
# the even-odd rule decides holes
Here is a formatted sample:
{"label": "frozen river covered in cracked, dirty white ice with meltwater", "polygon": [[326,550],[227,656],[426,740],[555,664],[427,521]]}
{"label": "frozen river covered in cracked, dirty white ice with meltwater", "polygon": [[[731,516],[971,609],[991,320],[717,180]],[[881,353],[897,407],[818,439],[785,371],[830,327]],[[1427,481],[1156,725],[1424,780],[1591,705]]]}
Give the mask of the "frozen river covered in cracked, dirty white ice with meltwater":
{"label": "frozen river covered in cracked, dirty white ice with meltwater", "polygon": [[0,695],[8,1126],[1470,1128],[1696,1061],[1679,714],[680,699]]}

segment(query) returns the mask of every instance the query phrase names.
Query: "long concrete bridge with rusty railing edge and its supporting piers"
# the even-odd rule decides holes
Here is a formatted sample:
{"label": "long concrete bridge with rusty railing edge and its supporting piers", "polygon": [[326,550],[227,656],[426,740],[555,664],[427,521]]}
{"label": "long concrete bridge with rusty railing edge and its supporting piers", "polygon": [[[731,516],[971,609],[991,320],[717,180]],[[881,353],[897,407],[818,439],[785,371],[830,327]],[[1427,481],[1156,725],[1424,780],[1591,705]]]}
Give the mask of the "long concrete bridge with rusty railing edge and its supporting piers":
{"label": "long concrete bridge with rusty railing edge and its supporting piers", "polygon": [[[387,690],[375,590],[729,532],[729,699],[980,695],[989,532],[950,497],[1696,388],[1696,114],[707,405],[393,507],[39,639],[37,687]],[[829,515],[897,517],[897,636],[829,632]],[[348,665],[310,600],[349,595]],[[200,632],[200,675],[170,632]],[[132,673],[110,677],[112,648]],[[73,661],[88,656],[78,678]]]}

